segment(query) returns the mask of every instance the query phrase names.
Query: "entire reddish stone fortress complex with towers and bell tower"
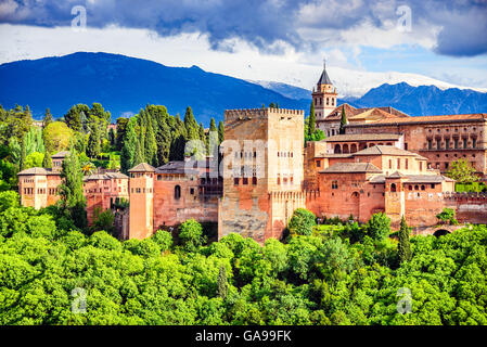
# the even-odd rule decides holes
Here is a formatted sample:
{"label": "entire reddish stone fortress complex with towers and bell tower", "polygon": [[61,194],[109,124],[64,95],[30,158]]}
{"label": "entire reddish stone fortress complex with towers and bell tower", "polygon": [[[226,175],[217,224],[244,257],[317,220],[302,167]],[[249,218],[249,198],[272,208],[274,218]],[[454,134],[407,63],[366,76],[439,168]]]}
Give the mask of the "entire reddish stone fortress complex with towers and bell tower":
{"label": "entire reddish stone fortress complex with towers and bell tower", "polygon": [[[144,239],[194,218],[218,222],[219,237],[236,232],[262,243],[279,239],[300,207],[319,218],[351,215],[360,222],[385,213],[393,228],[406,216],[414,233],[437,224],[435,216],[445,207],[453,208],[460,222],[487,222],[487,194],[454,193],[454,181],[444,176],[464,158],[486,180],[487,114],[412,117],[393,107],[337,105],[325,68],[312,102],[326,138],[306,146],[303,111],[226,111],[220,151],[230,175],[218,172],[208,157],[191,162],[190,169],[183,160],[157,168],[140,164],[129,177],[85,177],[89,221],[95,208],[116,208],[125,200],[129,208],[117,223],[124,239]],[[339,133],[342,110],[345,133]],[[24,206],[41,208],[59,200],[67,154],[52,156],[52,169],[18,174]]]}

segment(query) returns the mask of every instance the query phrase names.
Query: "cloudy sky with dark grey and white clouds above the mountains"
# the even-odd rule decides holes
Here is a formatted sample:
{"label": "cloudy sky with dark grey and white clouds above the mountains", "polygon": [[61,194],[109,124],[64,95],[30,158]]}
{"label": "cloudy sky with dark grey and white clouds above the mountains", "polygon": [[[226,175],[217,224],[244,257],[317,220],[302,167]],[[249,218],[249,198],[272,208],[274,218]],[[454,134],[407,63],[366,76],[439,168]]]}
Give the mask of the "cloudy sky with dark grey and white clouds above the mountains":
{"label": "cloudy sky with dark grey and white clouds above the mountains", "polygon": [[487,88],[487,0],[0,0],[0,63],[104,51],[310,88],[325,56]]}

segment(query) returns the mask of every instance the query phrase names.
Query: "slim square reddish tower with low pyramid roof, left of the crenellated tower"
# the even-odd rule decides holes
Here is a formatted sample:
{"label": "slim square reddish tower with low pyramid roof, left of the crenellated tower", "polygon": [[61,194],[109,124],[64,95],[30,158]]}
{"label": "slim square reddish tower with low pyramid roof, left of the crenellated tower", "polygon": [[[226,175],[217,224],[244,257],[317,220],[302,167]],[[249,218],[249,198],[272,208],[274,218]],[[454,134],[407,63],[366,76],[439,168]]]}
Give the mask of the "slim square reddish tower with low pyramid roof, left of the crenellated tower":
{"label": "slim square reddish tower with low pyramid roof, left of the crenellated tower", "polygon": [[146,163],[128,170],[130,174],[129,239],[145,239],[154,233],[154,172]]}

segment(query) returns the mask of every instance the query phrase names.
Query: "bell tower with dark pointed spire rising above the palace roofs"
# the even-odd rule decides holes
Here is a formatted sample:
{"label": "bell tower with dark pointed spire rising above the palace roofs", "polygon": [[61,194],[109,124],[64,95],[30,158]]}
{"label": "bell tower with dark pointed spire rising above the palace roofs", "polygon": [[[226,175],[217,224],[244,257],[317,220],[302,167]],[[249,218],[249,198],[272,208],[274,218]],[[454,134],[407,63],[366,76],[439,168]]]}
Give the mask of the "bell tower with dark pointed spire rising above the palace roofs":
{"label": "bell tower with dark pointed spire rising above the palace roofs", "polygon": [[316,119],[322,120],[336,107],[336,88],[326,73],[326,64],[323,62],[323,73],[318,80],[317,88],[312,91],[312,102],[315,103]]}

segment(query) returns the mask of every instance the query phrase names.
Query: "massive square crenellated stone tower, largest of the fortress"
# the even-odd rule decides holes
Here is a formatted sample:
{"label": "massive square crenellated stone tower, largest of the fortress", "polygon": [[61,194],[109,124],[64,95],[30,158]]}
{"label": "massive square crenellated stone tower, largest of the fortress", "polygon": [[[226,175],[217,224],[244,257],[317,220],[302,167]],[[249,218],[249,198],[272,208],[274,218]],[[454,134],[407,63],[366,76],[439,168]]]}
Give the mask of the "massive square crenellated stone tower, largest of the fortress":
{"label": "massive square crenellated stone tower, largest of the fortress", "polygon": [[218,235],[264,243],[279,239],[304,207],[304,112],[283,108],[225,112],[223,194]]}

